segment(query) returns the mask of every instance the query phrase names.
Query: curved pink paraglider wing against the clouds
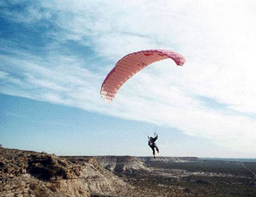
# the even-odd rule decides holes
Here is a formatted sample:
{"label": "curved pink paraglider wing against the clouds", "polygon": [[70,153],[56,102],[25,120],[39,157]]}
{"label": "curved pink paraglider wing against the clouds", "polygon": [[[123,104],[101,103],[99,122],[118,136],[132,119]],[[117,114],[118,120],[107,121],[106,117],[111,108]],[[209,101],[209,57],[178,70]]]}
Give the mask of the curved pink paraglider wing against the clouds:
{"label": "curved pink paraglider wing against the clouds", "polygon": [[115,64],[115,67],[106,76],[101,85],[101,97],[111,103],[120,87],[131,76],[155,61],[168,58],[173,59],[177,66],[182,66],[185,63],[185,58],[181,54],[171,50],[142,50],[127,54]]}

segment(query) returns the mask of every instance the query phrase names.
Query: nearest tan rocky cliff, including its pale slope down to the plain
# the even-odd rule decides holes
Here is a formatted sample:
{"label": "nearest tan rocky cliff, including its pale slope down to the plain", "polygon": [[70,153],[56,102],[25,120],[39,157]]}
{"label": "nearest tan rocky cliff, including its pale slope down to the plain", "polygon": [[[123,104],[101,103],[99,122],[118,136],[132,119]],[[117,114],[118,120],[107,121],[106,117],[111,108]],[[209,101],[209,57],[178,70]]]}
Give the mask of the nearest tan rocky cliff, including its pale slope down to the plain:
{"label": "nearest tan rocky cliff, including its pale slope down to the plain", "polygon": [[0,196],[133,196],[133,189],[90,157],[0,147]]}

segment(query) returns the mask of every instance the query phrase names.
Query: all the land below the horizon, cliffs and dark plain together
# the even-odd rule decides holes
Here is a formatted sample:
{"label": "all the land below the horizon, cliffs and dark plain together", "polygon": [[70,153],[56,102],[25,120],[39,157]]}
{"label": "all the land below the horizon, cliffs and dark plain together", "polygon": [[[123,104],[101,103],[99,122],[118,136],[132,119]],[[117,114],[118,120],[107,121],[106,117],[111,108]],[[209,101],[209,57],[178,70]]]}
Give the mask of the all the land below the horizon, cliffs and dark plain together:
{"label": "all the land below the horizon, cliffs and dark plain together", "polygon": [[256,196],[256,162],[0,147],[0,196]]}

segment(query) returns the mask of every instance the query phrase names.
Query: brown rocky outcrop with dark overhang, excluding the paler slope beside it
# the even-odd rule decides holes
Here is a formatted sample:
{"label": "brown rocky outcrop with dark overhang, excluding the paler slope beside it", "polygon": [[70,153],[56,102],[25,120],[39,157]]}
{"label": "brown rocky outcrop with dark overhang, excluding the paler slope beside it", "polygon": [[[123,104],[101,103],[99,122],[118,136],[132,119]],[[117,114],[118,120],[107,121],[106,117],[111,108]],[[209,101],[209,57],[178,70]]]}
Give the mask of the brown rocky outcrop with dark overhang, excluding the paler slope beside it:
{"label": "brown rocky outcrop with dark overhang, excluding the paler slope beside it", "polygon": [[80,171],[51,154],[0,147],[0,196],[90,196]]}

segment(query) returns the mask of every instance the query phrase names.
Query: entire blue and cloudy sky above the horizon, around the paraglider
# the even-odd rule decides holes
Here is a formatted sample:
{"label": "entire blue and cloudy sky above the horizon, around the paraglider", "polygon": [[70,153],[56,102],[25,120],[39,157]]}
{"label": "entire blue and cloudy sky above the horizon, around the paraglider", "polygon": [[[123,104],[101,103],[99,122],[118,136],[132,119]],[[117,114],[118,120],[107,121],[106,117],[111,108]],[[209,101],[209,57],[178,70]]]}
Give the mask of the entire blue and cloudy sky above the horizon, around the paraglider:
{"label": "entire blue and cloudy sky above the horizon, around the paraglider", "polygon": [[[256,157],[254,1],[1,1],[0,143],[65,155]],[[129,52],[148,66],[113,103],[99,90]]]}

